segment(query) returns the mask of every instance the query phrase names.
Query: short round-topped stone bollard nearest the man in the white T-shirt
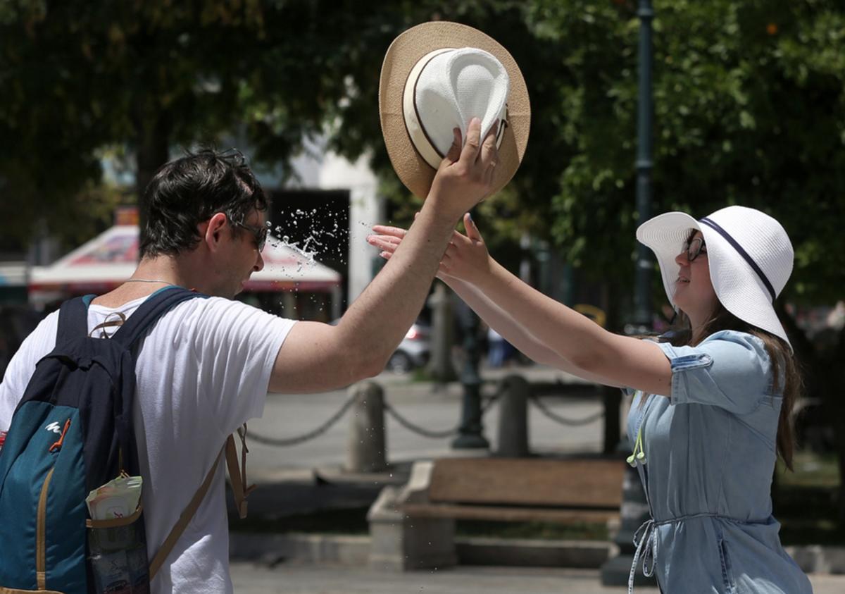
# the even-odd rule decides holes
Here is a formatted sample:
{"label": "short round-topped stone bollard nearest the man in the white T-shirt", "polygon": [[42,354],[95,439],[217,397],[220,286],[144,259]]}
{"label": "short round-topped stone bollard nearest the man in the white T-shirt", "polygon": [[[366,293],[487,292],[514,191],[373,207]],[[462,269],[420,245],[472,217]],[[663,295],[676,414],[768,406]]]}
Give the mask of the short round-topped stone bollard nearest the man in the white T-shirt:
{"label": "short round-topped stone bollard nearest the man in the white T-shirt", "polygon": [[346,470],[379,472],[387,468],[384,452],[384,390],[374,382],[350,388],[356,394],[346,442]]}

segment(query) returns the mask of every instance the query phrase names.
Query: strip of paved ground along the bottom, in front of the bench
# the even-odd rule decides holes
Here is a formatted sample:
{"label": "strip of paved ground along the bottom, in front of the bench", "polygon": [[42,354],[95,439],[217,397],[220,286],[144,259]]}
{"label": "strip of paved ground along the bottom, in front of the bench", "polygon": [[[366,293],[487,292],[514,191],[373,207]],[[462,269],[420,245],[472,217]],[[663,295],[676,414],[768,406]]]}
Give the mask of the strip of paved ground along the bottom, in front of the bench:
{"label": "strip of paved ground along the bottom, in front of the bench", "polygon": [[[324,565],[232,564],[238,594],[624,594],[603,587],[597,571],[458,567],[447,571],[385,574],[363,568]],[[815,594],[842,594],[845,575],[811,575]],[[638,587],[637,594],[657,594]],[[676,593],[679,594],[679,593]]]}

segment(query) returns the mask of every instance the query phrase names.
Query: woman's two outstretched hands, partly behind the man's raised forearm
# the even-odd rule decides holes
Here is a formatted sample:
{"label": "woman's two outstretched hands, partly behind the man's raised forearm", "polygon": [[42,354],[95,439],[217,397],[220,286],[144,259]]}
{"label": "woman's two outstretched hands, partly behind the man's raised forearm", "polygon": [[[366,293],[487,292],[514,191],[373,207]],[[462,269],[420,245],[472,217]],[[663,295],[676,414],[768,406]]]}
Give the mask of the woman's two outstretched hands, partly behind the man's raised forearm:
{"label": "woman's two outstretched hands, partly behind the man's raised forearm", "polygon": [[[444,281],[456,278],[475,284],[490,272],[491,259],[487,245],[484,244],[484,239],[468,212],[464,215],[464,226],[466,235],[457,231],[452,234],[452,239],[440,260],[437,276]],[[379,256],[390,260],[405,234],[406,230],[400,227],[374,225],[373,234],[368,235],[367,242],[381,250]]]}

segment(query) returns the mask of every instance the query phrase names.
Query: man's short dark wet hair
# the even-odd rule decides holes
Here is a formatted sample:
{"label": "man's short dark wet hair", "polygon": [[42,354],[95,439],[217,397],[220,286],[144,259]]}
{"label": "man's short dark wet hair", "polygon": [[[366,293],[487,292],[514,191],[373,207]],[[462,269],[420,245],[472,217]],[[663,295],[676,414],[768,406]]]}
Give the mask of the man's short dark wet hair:
{"label": "man's short dark wet hair", "polygon": [[[202,239],[197,225],[217,212],[232,223],[245,223],[253,210],[267,210],[258,179],[237,150],[203,149],[168,162],[144,191],[146,227],[140,255],[176,256]],[[233,234],[242,228],[232,226]]]}

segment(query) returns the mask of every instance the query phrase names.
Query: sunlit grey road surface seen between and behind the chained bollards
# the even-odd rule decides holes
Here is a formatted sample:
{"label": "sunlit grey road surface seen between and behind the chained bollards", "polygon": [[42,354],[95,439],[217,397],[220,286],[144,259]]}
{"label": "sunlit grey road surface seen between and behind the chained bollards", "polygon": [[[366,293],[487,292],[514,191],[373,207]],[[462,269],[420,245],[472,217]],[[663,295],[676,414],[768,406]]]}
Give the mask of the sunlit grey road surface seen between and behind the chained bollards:
{"label": "sunlit grey road surface seen between and behind the chained bollards", "polygon": [[[572,377],[542,366],[485,370],[483,377],[493,379],[508,373],[524,375],[529,381],[570,382]],[[374,381],[384,388],[384,398],[417,425],[439,431],[455,427],[461,418],[461,384],[435,389],[433,384],[411,382],[407,377],[382,374]],[[492,389],[492,387],[489,387]],[[490,391],[485,389],[485,392]],[[317,394],[271,394],[264,406],[264,416],[250,421],[250,432],[267,437],[287,438],[302,435],[323,424],[346,400],[346,390]],[[549,408],[571,418],[586,418],[602,409],[598,399],[548,398]],[[346,414],[327,432],[292,447],[276,448],[250,443],[249,471],[254,480],[266,482],[306,476],[312,469],[339,470],[346,462],[349,426]],[[536,407],[529,408],[529,436],[532,450],[542,452],[599,452],[602,448],[602,421],[586,426],[562,426],[543,416]],[[499,410],[493,406],[484,416],[484,435],[495,446],[499,435]],[[455,455],[450,438],[432,439],[408,431],[390,416],[385,425],[387,460],[401,464],[414,459]],[[459,453],[460,454],[460,453]]]}

